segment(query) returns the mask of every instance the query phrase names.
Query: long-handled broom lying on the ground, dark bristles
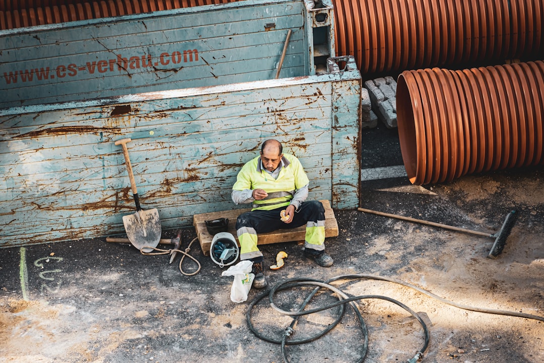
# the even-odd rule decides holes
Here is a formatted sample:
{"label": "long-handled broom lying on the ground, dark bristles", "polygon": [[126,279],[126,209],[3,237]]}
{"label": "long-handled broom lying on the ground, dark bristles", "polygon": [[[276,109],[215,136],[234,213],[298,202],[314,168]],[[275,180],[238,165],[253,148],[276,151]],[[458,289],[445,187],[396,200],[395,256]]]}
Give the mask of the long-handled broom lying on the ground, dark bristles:
{"label": "long-handled broom lying on the ground, dark bristles", "polygon": [[514,227],[514,224],[516,223],[516,220],[518,217],[518,213],[515,210],[506,214],[506,218],[504,219],[502,227],[500,227],[500,229],[496,233],[491,234],[486,232],[473,231],[473,230],[469,230],[469,229],[465,229],[461,227],[449,226],[447,224],[442,224],[442,223],[429,222],[428,220],[399,216],[398,214],[390,214],[390,213],[373,211],[373,210],[369,210],[365,208],[357,208],[357,210],[361,212],[378,214],[379,216],[403,219],[403,220],[408,220],[410,222],[423,223],[423,224],[428,224],[435,227],[446,228],[449,230],[467,232],[467,233],[472,233],[474,235],[487,236],[487,237],[494,238],[495,242],[493,243],[493,247],[491,247],[491,250],[489,251],[489,255],[487,255],[487,257],[490,257],[492,259],[500,255],[500,253],[502,253],[504,249],[504,245],[506,244],[506,238],[508,238],[508,236],[510,235],[510,232],[512,231],[512,227]]}

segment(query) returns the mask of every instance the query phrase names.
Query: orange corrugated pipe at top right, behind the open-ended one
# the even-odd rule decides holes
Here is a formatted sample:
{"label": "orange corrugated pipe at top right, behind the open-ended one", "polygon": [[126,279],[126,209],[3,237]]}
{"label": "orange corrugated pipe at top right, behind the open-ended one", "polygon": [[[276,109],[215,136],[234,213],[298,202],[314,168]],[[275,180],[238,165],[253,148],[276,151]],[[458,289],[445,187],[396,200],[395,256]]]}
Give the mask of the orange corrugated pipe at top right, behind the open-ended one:
{"label": "orange corrugated pipe at top right, behind the open-ended one", "polygon": [[361,73],[497,64],[544,52],[542,0],[332,0],[338,54]]}

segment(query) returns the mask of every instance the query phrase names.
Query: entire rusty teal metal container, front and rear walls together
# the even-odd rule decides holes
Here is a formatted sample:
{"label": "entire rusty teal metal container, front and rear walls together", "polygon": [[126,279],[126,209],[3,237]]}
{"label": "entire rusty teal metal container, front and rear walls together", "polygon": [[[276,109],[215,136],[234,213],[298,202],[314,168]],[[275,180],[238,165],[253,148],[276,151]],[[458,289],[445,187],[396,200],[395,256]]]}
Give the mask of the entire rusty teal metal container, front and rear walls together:
{"label": "entire rusty teal metal container, front and rear walls together", "polygon": [[335,57],[328,4],[248,0],[0,31],[0,247],[122,233],[134,210],[122,138],[163,230],[245,207],[232,185],[266,138],[301,159],[311,199],[355,207],[361,73]]}

